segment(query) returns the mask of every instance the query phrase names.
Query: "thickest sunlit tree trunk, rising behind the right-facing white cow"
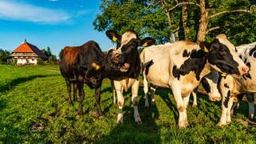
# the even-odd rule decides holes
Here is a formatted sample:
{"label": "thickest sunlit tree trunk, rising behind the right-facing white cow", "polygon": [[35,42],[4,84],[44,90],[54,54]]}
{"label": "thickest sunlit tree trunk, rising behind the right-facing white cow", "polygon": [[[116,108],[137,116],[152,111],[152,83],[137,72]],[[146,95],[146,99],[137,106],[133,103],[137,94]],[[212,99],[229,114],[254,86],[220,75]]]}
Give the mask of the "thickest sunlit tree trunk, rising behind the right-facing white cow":
{"label": "thickest sunlit tree trunk, rising behind the right-facing white cow", "polygon": [[203,42],[206,38],[207,26],[208,26],[208,10],[206,9],[206,1],[200,0],[200,20],[198,27],[198,38],[197,42]]}

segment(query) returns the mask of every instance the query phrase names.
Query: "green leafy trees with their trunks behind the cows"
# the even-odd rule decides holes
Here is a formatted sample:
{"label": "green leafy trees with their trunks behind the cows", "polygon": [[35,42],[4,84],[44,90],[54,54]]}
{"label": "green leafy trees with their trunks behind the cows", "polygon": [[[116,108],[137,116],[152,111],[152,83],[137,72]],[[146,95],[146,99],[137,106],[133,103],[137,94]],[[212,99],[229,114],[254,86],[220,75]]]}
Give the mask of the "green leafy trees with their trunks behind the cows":
{"label": "green leafy trees with their trunks behind the cows", "polygon": [[256,39],[254,4],[251,0],[105,0],[93,24],[99,31],[134,29],[160,43],[208,41],[222,33],[238,45]]}

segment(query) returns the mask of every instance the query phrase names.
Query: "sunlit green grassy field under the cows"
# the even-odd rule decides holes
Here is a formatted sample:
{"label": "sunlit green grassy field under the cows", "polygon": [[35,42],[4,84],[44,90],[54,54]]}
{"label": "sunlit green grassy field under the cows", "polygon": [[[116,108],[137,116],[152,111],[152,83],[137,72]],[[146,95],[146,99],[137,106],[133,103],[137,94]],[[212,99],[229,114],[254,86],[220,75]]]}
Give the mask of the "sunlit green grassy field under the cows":
{"label": "sunlit green grassy field under the cows", "polygon": [[67,102],[66,84],[58,66],[0,65],[0,143],[255,143],[256,125],[246,118],[248,105],[230,126],[218,127],[220,102],[198,96],[198,107],[188,108],[190,128],[178,129],[178,110],[170,90],[157,90],[156,105],[144,108],[139,90],[142,124],[136,125],[129,91],[125,93],[124,123],[117,124],[110,81],[102,85],[104,118],[96,117],[94,90],[84,87],[84,115],[78,102]]}

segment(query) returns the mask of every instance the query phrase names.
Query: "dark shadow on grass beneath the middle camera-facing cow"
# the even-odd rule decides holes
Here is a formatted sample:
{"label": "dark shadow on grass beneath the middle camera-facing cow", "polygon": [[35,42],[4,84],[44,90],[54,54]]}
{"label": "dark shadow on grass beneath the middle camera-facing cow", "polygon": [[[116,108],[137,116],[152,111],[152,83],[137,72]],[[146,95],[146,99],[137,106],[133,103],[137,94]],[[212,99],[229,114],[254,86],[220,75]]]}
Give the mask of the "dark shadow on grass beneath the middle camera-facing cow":
{"label": "dark shadow on grass beneath the middle camera-facing cow", "polygon": [[[109,90],[109,89],[107,89]],[[157,106],[144,106],[145,98],[142,89],[138,90],[138,112],[142,119],[142,124],[134,122],[134,106],[131,100],[131,90],[124,92],[125,105],[123,106],[124,120],[122,124],[114,123],[110,133],[103,135],[102,138],[95,140],[95,143],[159,143],[160,128],[156,121],[159,117]],[[111,97],[113,98],[113,97]],[[109,98],[108,98],[109,99]],[[113,102],[113,101],[111,101]],[[113,106],[113,104],[110,104]],[[106,108],[107,110],[109,108]],[[105,109],[105,113],[107,110]],[[115,106],[118,111],[118,106]],[[116,122],[118,114],[114,114]]]}

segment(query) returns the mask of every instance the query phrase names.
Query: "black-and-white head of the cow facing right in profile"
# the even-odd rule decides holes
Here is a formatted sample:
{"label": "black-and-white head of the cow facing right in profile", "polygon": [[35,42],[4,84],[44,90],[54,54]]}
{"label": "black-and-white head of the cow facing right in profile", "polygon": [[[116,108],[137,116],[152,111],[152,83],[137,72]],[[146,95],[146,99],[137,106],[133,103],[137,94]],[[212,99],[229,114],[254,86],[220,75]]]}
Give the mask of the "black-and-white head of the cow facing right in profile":
{"label": "black-and-white head of the cow facing right in profile", "polygon": [[249,68],[238,57],[236,49],[226,35],[219,34],[214,42],[201,42],[199,46],[207,53],[207,59],[212,69],[223,74],[246,74]]}

